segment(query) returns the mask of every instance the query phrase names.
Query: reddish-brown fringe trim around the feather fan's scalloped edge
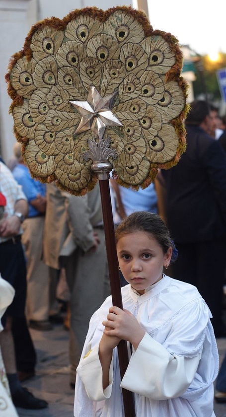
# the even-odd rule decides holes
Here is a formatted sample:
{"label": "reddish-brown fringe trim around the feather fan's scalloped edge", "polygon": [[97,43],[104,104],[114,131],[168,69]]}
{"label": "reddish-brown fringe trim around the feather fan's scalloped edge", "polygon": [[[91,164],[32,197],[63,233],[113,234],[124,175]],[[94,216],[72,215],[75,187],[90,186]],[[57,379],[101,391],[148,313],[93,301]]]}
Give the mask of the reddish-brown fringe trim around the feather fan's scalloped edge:
{"label": "reddish-brown fringe trim around the feather fan's scalloped edge", "polygon": [[[34,33],[42,27],[48,26],[51,28],[54,28],[56,30],[65,30],[66,26],[68,25],[68,23],[70,21],[75,20],[78,16],[80,15],[86,15],[86,16],[90,16],[94,19],[98,19],[100,22],[104,23],[108,17],[114,13],[115,11],[126,11],[129,12],[140,24],[142,24],[143,28],[144,28],[144,33],[146,37],[152,36],[152,35],[159,35],[161,36],[167,43],[168,45],[171,47],[171,49],[173,50],[175,57],[176,57],[176,61],[175,64],[172,66],[172,68],[165,74],[165,79],[166,81],[170,81],[170,80],[174,80],[176,82],[178,82],[180,88],[182,89],[183,95],[185,97],[185,99],[188,96],[188,84],[187,82],[182,78],[181,76],[181,70],[182,70],[182,65],[183,65],[183,54],[182,54],[182,50],[181,47],[178,43],[178,40],[175,36],[171,35],[170,33],[166,33],[163,32],[161,30],[153,30],[150,21],[146,15],[145,12],[141,11],[141,10],[136,10],[134,9],[132,6],[116,6],[116,7],[112,7],[109,8],[108,10],[102,10],[99,9],[97,7],[85,7],[82,9],[75,9],[74,11],[70,12],[68,15],[66,15],[62,20],[52,16],[51,18],[46,18],[43,19],[39,22],[37,22],[36,24],[34,24],[28,35],[25,38],[24,41],[24,45],[23,45],[23,49],[17,53],[15,53],[8,64],[8,72],[5,74],[5,81],[7,83],[7,92],[9,97],[12,99],[12,103],[9,107],[9,113],[12,113],[13,108],[15,106],[21,106],[23,104],[23,97],[21,97],[19,94],[17,94],[16,90],[12,87],[11,85],[11,81],[10,81],[10,73],[12,68],[14,67],[14,65],[16,64],[16,62],[20,59],[23,58],[24,56],[26,56],[26,59],[28,61],[30,61],[32,59],[32,50],[30,48],[31,45],[31,39],[32,36],[34,35]],[[177,117],[176,119],[174,119],[171,123],[173,125],[173,127],[175,128],[177,135],[179,137],[179,142],[178,142],[178,148],[177,148],[177,152],[175,157],[171,160],[168,161],[166,163],[158,163],[158,164],[151,164],[151,169],[150,169],[150,173],[149,173],[149,177],[146,178],[142,184],[140,185],[130,185],[130,184],[126,184],[124,183],[116,174],[116,172],[113,173],[113,178],[115,178],[115,180],[117,181],[118,184],[123,185],[124,187],[127,188],[132,188],[136,191],[138,191],[140,188],[144,189],[146,187],[148,187],[151,182],[154,181],[158,169],[159,168],[164,168],[164,169],[169,169],[172,166],[176,165],[177,162],[180,159],[180,156],[183,152],[185,152],[186,150],[186,131],[183,125],[183,121],[186,118],[187,113],[190,110],[190,106],[188,104],[185,104],[184,109],[182,110],[181,114],[179,117]],[[22,143],[22,155],[24,158],[24,161],[26,163],[25,160],[25,148],[26,148],[26,144],[28,142],[28,138],[22,138],[16,131],[15,126],[13,127],[13,132],[14,135],[17,139],[18,142]],[[62,183],[60,183],[58,180],[56,180],[55,175],[52,174],[50,176],[48,176],[47,178],[42,178],[40,176],[34,175],[31,171],[31,176],[32,178],[37,178],[39,179],[41,182],[43,183],[51,183],[53,181],[56,182],[57,186],[63,190],[63,191],[67,191],[72,195],[75,196],[82,196],[85,195],[88,191],[92,190],[92,188],[94,187],[94,185],[97,183],[98,179],[96,174],[93,174],[89,184],[87,187],[85,187],[83,190],[80,190],[79,192],[75,192],[72,190],[69,190],[67,187],[64,187],[64,185]]]}

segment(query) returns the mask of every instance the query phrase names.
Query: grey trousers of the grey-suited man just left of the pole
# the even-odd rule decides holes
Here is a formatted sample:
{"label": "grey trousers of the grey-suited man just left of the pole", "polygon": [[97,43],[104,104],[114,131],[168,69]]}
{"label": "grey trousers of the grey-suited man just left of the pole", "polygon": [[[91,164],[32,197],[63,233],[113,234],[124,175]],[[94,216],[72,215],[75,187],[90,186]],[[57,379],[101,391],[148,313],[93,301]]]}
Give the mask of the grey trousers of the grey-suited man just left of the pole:
{"label": "grey trousers of the grey-suited man just left of the pole", "polygon": [[80,248],[67,258],[66,276],[71,290],[71,329],[69,355],[72,365],[71,382],[88,331],[92,314],[110,295],[110,282],[104,231],[98,230],[100,244],[95,252]]}

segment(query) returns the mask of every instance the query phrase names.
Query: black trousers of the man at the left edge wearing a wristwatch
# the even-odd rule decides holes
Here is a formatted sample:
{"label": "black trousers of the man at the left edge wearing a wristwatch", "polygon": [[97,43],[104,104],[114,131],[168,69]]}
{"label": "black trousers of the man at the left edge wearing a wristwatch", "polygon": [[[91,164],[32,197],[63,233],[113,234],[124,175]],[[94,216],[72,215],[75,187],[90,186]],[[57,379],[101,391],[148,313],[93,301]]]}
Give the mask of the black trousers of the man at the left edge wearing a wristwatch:
{"label": "black trousers of the man at the left edge wearing a wristwatch", "polygon": [[0,244],[0,274],[15,289],[13,301],[2,316],[1,322],[4,326],[6,316],[12,317],[12,336],[17,370],[32,372],[36,364],[36,352],[24,313],[27,288],[26,262],[20,242]]}

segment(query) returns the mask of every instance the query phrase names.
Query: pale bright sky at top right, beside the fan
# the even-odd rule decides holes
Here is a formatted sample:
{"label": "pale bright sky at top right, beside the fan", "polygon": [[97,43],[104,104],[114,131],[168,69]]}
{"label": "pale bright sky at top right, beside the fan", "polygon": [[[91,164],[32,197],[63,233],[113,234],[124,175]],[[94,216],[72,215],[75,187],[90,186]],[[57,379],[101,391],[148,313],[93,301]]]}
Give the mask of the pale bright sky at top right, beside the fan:
{"label": "pale bright sky at top right, beside the fan", "polygon": [[225,0],[148,0],[153,29],[170,32],[198,54],[226,53]]}

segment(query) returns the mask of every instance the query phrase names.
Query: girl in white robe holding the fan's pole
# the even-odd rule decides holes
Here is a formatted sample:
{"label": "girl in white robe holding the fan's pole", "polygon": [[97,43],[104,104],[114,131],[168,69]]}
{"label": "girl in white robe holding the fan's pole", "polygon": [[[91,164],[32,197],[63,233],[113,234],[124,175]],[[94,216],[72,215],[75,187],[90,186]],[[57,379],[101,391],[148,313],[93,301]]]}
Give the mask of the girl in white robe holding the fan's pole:
{"label": "girl in white robe holding the fan's pole", "polygon": [[[161,217],[129,215],[116,229],[123,310],[111,297],[93,314],[77,367],[75,417],[123,417],[121,388],[137,417],[214,417],[218,349],[196,287],[163,274],[176,249]],[[120,380],[117,345],[132,345]]]}

